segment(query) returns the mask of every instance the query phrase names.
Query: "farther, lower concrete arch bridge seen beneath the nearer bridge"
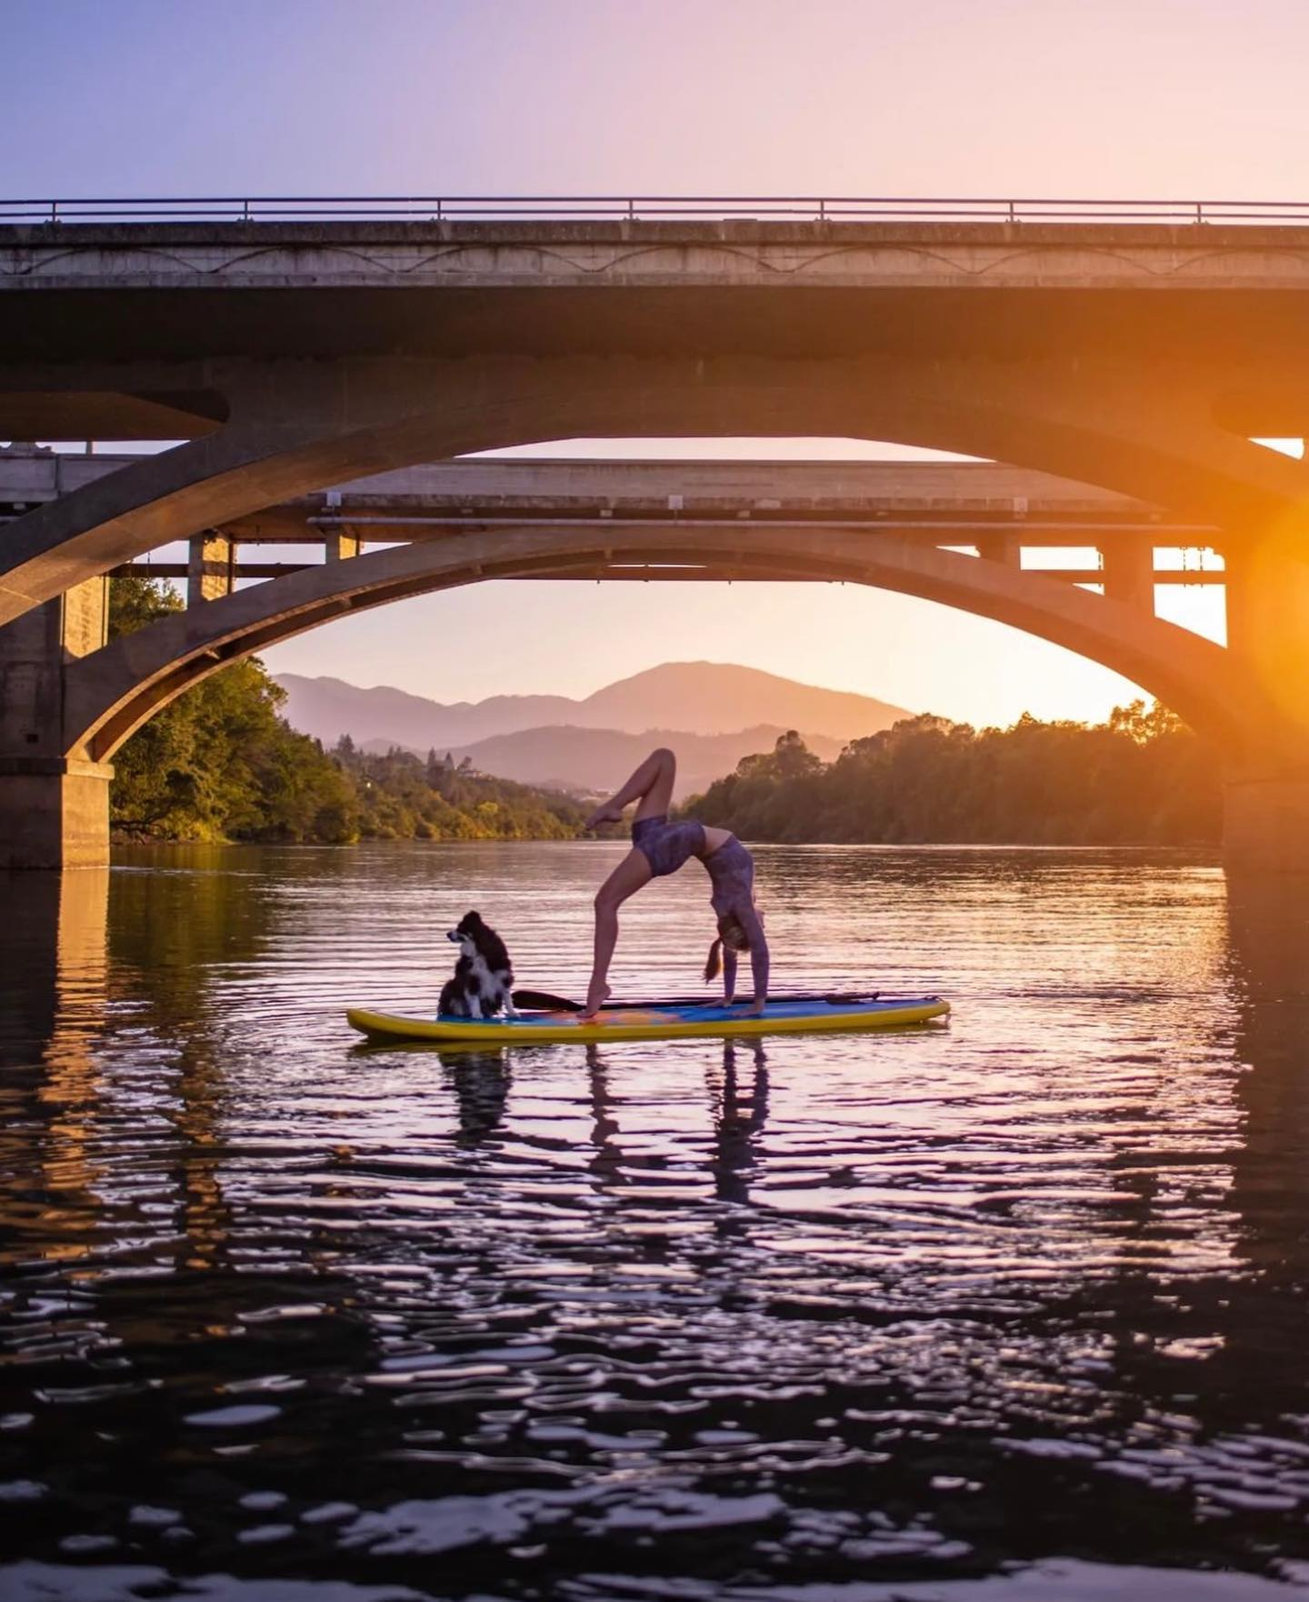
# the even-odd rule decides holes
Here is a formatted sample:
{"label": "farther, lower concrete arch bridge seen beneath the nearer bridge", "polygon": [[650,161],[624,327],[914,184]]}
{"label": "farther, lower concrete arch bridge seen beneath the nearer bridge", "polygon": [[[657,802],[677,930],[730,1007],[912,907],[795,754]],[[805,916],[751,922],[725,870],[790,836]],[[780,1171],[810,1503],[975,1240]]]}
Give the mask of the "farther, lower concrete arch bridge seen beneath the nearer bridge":
{"label": "farther, lower concrete arch bridge seen beneath the nearer bridge", "polygon": [[[0,506],[16,517],[120,468],[6,453]],[[367,554],[370,535],[388,546]],[[96,820],[115,750],[210,673],[349,612],[493,578],[875,585],[1078,650],[1237,750],[1250,694],[1232,682],[1227,654],[1152,615],[1157,583],[1226,578],[1154,566],[1158,546],[1211,535],[1110,492],[992,463],[463,460],[346,484],[208,530],[184,562],[115,569],[186,580],[186,612],[136,634],[104,642],[104,578],[0,631],[0,663],[13,676],[26,639],[30,676],[45,674],[40,700],[58,705],[58,724],[6,724],[11,750],[56,735],[35,763],[27,756],[46,772],[10,775],[14,788],[54,779],[64,796],[59,814],[30,807],[48,819],[46,836],[24,849],[64,862],[103,854]],[[268,546],[298,559],[250,559]],[[306,546],[320,559],[306,562],[319,557]],[[1049,546],[1098,551],[1099,564],[1049,566]],[[240,586],[252,578],[261,582]]]}

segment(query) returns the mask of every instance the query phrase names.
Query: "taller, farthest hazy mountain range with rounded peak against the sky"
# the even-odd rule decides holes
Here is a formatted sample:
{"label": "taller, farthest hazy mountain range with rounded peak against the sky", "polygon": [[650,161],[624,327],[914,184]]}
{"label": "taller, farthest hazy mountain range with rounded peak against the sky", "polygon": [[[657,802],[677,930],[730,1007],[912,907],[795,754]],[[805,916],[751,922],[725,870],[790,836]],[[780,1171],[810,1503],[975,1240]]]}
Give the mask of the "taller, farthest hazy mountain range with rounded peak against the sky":
{"label": "taller, farthest hazy mountain range with rounded peak against the sky", "polygon": [[497,735],[542,727],[642,734],[675,726],[679,734],[715,735],[769,726],[844,742],[910,716],[902,706],[870,695],[825,690],[718,662],[667,662],[583,700],[492,695],[442,705],[405,690],[359,689],[343,679],[308,679],[296,673],[279,674],[277,682],[287,690],[288,723],[304,734],[328,745],[349,734],[359,743],[377,740],[418,751],[466,750]]}

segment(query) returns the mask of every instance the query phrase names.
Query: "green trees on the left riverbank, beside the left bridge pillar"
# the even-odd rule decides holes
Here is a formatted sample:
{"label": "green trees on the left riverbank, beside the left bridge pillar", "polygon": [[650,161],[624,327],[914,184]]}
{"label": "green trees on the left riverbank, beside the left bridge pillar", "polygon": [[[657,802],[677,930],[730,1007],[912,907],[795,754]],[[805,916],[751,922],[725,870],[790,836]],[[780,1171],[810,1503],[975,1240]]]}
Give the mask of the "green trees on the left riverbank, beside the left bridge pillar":
{"label": "green trees on the left riverbank, beside the left bridge pillar", "polygon": [[[111,638],[181,610],[170,585],[111,582]],[[567,839],[580,804],[473,774],[431,753],[335,751],[279,716],[285,692],[255,658],[179,695],[122,747],[109,790],[120,839]]]}

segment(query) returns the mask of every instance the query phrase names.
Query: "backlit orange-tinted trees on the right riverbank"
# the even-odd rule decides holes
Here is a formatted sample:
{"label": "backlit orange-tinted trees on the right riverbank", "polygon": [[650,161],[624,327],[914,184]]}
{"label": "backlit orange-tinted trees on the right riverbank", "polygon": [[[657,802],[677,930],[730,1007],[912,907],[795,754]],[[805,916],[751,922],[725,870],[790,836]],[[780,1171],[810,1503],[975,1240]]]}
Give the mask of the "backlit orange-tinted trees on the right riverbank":
{"label": "backlit orange-tinted trees on the right riverbank", "polygon": [[1166,708],[1107,723],[974,729],[907,718],[832,763],[798,734],[747,756],[686,811],[747,839],[1198,844],[1221,836],[1213,753]]}

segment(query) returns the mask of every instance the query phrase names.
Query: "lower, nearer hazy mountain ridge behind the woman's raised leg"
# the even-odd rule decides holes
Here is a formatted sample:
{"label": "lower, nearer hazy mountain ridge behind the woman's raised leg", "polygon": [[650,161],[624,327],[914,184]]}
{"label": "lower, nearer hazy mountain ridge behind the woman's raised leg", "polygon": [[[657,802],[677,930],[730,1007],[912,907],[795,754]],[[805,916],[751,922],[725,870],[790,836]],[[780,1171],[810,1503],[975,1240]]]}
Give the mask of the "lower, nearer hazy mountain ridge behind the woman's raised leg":
{"label": "lower, nearer hazy mountain ridge behind the woman's raised leg", "polygon": [[[514,734],[493,734],[474,745],[437,747],[457,763],[468,756],[482,774],[500,779],[518,779],[521,783],[540,785],[546,790],[582,791],[599,795],[614,791],[636,767],[654,745],[671,745],[678,753],[676,798],[707,790],[715,779],[729,774],[742,756],[772,750],[779,724],[756,724],[735,734],[684,734],[671,729],[646,729],[642,734],[625,734],[618,729],[577,729],[551,726],[543,729],[519,729]],[[841,740],[824,734],[806,735],[809,748],[832,761],[841,751]],[[365,740],[370,751],[389,750],[386,740]],[[421,755],[426,755],[423,748]]]}

